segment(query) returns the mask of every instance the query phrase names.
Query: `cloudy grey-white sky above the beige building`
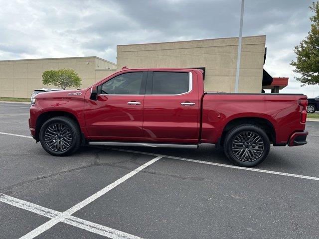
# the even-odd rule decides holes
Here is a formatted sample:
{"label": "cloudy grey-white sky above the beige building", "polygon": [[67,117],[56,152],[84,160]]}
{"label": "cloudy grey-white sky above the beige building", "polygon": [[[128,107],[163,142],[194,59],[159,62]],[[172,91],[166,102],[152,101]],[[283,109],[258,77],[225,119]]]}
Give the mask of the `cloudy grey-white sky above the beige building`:
{"label": "cloudy grey-white sky above the beige building", "polygon": [[[310,30],[312,0],[245,0],[243,36],[266,35],[265,69],[300,87],[290,62]],[[238,36],[240,0],[0,0],[0,60],[98,56],[116,45]]]}

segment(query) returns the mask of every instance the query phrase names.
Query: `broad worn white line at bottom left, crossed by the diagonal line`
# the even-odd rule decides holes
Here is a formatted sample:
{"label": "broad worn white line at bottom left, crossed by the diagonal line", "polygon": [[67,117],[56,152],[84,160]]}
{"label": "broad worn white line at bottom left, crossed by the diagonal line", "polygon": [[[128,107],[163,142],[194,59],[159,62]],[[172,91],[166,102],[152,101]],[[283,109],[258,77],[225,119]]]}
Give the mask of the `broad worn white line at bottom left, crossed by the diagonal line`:
{"label": "broad worn white line at bottom left, crossed by the diagonal line", "polygon": [[[10,196],[7,196],[5,194],[1,194],[0,193],[0,202],[12,205],[14,207],[18,207],[24,210],[27,210],[29,212],[32,213],[36,213],[38,215],[47,217],[47,218],[55,218],[57,217],[59,214],[61,214],[58,211],[49,209],[49,208],[44,208],[42,206],[33,204],[33,203],[29,203],[17,198],[13,198]],[[81,228],[84,229],[86,231],[101,235],[101,236],[105,236],[108,238],[112,238],[112,239],[141,239],[140,237],[128,234],[128,233],[124,233],[118,230],[115,230],[113,228],[109,228],[109,227],[105,227],[103,225],[100,224],[96,224],[96,223],[92,223],[80,218],[76,218],[73,216],[69,216],[66,219],[63,220],[63,223],[72,225],[74,227],[77,228]]]}

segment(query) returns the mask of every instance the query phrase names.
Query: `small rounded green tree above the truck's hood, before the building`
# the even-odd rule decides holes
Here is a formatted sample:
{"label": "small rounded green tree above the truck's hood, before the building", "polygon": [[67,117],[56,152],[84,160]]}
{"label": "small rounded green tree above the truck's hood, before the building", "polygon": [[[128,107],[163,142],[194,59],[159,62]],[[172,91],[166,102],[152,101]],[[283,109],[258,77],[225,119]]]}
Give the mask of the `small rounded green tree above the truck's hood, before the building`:
{"label": "small rounded green tree above the truck's hood, before the building", "polygon": [[63,90],[81,86],[81,78],[73,69],[45,71],[42,73],[42,82],[44,85],[53,85]]}

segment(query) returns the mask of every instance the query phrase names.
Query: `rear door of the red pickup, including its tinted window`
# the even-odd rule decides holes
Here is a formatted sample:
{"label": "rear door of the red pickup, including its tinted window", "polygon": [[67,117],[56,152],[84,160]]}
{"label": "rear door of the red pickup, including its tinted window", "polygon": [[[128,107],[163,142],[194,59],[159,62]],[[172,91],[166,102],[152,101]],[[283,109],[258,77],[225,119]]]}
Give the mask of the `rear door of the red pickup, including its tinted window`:
{"label": "rear door of the red pickup, including its tinted window", "polygon": [[148,73],[144,137],[149,141],[196,143],[199,136],[197,75],[184,71]]}

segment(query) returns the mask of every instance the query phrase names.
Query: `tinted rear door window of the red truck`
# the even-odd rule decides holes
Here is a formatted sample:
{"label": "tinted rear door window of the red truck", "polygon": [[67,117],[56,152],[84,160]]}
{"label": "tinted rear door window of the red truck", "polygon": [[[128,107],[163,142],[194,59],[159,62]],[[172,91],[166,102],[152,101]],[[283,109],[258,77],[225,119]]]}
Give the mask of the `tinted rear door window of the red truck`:
{"label": "tinted rear door window of the red truck", "polygon": [[153,95],[178,95],[189,91],[189,73],[153,72]]}

